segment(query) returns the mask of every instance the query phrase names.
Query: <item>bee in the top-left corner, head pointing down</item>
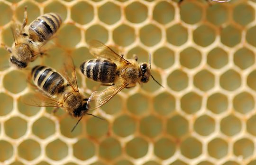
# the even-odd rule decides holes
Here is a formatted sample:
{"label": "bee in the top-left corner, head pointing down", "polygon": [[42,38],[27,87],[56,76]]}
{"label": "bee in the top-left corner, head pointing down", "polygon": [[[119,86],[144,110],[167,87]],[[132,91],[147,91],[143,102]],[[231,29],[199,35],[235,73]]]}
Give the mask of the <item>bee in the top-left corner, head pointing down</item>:
{"label": "bee in the top-left corner, head pointing down", "polygon": [[25,8],[20,30],[16,23],[13,22],[11,25],[14,44],[11,48],[2,44],[11,53],[9,62],[19,69],[27,67],[27,63],[34,61],[37,55],[43,54],[41,47],[57,32],[61,23],[62,19],[58,14],[46,13],[26,26],[27,8]]}

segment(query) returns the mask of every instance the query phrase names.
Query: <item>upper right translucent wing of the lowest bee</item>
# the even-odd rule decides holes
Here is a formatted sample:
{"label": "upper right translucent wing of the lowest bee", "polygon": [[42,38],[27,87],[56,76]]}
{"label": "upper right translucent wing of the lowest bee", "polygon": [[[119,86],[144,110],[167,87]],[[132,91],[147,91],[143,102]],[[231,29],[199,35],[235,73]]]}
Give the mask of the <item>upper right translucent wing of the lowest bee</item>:
{"label": "upper right translucent wing of the lowest bee", "polygon": [[64,67],[60,71],[61,74],[64,76],[64,78],[68,81],[68,83],[71,85],[74,91],[79,91],[78,90],[78,85],[76,81],[76,72],[75,72],[75,66],[73,59],[68,56],[67,60],[64,62]]}

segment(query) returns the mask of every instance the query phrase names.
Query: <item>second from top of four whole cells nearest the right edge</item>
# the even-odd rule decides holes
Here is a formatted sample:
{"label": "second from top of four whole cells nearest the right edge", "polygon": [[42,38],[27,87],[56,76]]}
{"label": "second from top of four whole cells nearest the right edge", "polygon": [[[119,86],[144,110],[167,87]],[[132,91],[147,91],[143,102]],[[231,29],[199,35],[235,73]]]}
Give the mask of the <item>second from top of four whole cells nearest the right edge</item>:
{"label": "second from top of four whole cells nearest the right edge", "polygon": [[254,52],[247,48],[238,49],[234,54],[234,63],[241,69],[254,65]]}

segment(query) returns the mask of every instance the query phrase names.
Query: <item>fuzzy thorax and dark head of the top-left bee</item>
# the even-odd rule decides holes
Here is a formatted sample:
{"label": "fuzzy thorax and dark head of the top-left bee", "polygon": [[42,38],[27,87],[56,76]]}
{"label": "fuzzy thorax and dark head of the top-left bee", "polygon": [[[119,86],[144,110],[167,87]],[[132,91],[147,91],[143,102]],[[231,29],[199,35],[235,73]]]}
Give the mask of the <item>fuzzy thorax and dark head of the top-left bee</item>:
{"label": "fuzzy thorax and dark head of the top-left bee", "polygon": [[16,44],[14,49],[12,49],[12,55],[9,61],[18,68],[25,68],[31,57],[32,54],[27,44]]}

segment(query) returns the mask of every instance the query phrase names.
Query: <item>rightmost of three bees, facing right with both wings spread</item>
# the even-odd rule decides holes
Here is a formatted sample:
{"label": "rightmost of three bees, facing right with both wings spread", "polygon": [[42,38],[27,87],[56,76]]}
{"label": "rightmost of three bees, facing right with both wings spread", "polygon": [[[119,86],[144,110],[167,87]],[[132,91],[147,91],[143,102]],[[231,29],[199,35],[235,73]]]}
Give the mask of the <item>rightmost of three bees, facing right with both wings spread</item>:
{"label": "rightmost of three bees, facing right with both wings spread", "polygon": [[[89,50],[96,58],[82,63],[80,66],[82,74],[89,79],[102,82],[102,85],[110,85],[111,87],[104,91],[94,91],[87,101],[87,109],[103,106],[125,87],[130,88],[137,83],[146,83],[150,76],[157,82],[150,74],[151,55],[148,65],[147,63],[138,64],[136,56],[128,61],[123,58],[123,55],[119,56],[100,41],[89,42]],[[157,83],[162,86],[159,82]]]}

